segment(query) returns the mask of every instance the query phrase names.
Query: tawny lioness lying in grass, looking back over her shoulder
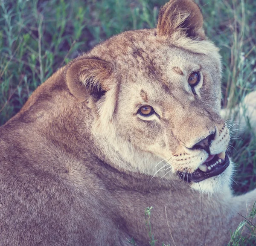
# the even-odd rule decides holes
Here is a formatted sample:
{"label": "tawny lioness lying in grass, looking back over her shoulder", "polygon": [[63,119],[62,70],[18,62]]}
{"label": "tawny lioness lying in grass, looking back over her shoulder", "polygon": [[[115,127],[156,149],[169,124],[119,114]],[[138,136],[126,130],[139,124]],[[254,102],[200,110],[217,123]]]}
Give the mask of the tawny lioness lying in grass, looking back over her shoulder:
{"label": "tawny lioness lying in grass, looking back over her shoulder", "polygon": [[[0,128],[1,246],[220,246],[234,197],[221,57],[193,0],[59,69]],[[209,196],[209,194],[211,194]]]}

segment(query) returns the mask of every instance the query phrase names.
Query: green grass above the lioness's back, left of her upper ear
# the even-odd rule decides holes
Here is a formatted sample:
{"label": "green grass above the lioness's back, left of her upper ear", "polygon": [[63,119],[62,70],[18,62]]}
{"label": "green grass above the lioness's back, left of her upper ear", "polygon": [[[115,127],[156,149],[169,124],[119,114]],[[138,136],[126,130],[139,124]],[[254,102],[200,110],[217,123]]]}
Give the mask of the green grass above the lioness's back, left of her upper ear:
{"label": "green grass above the lioness's back, left of her upper ear", "polygon": [[[164,1],[0,0],[0,125],[70,59],[128,29],[154,27]],[[157,3],[157,6],[155,6]]]}

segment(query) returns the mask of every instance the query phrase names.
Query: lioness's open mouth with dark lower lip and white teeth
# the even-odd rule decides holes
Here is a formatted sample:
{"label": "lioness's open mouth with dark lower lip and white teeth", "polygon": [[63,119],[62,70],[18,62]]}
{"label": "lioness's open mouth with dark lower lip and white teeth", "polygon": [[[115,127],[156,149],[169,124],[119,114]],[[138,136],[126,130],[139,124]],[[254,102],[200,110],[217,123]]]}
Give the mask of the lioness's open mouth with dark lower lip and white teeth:
{"label": "lioness's open mouth with dark lower lip and white teeth", "polygon": [[225,152],[218,155],[210,155],[207,160],[193,173],[179,173],[180,179],[187,182],[200,182],[223,173],[229,166],[230,161]]}

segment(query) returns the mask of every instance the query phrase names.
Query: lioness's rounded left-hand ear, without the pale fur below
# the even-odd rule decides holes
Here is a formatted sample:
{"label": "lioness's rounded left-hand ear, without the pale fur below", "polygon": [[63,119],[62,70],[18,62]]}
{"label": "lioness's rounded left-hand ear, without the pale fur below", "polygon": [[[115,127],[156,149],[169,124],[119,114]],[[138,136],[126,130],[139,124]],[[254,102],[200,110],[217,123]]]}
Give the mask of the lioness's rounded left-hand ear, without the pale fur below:
{"label": "lioness's rounded left-hand ear, without the pale fur below", "polygon": [[113,86],[112,67],[97,58],[82,58],[67,67],[66,80],[70,92],[81,101],[88,96],[99,99]]}

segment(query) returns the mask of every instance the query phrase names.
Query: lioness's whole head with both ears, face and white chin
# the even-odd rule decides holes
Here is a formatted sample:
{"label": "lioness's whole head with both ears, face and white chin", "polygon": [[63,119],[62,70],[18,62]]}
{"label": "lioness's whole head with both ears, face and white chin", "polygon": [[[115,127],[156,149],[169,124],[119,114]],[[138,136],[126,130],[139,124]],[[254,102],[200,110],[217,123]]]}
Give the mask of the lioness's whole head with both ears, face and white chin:
{"label": "lioness's whole head with both ears, face and white chin", "polygon": [[192,0],[170,1],[157,29],[122,33],[72,62],[67,84],[94,114],[108,162],[212,193],[229,184],[232,163],[220,56],[202,23]]}

